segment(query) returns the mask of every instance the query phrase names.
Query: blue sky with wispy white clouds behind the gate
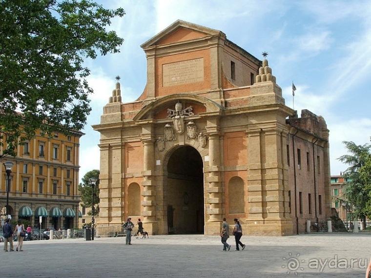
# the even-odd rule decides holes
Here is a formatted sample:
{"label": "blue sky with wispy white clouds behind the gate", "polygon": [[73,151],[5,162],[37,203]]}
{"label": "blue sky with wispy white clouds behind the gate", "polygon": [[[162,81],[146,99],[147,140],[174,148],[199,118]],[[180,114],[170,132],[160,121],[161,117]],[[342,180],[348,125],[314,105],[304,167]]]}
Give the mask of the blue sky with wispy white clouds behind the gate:
{"label": "blue sky with wispy white clouds behind the gate", "polygon": [[99,169],[103,106],[121,77],[123,102],[137,99],[146,84],[142,43],[176,20],[220,30],[227,39],[269,66],[293,108],[291,82],[297,90],[294,109],[323,116],[330,130],[331,175],[347,168],[337,160],[346,154],[342,141],[370,143],[371,136],[371,1],[289,0],[98,0],[105,8],[124,8],[126,15],[109,26],[124,38],[120,54],[86,60],[94,89],[92,112],[80,141],[80,179]]}

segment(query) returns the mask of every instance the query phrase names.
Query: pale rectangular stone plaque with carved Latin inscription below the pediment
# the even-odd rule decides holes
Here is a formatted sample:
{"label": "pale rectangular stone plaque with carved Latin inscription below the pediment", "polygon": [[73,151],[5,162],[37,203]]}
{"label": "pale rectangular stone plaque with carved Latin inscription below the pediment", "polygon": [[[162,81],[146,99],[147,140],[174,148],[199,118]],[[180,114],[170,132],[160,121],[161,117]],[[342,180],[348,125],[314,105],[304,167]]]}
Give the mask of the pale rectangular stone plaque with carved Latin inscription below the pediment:
{"label": "pale rectangular stone plaque with carved Latin inscription below the pediment", "polygon": [[204,58],[163,65],[163,86],[204,81]]}

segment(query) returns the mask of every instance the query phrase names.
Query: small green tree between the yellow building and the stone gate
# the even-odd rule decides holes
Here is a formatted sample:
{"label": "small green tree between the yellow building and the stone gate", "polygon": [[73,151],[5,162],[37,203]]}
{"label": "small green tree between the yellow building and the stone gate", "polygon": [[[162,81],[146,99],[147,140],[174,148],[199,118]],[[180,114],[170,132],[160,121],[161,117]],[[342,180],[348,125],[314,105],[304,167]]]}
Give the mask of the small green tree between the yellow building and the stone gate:
{"label": "small green tree between the yellow building and the stone gate", "polygon": [[[99,177],[99,170],[92,170],[85,174],[85,176],[82,177],[82,183],[79,184],[78,189],[81,194],[81,201],[82,206],[85,208],[91,208],[92,207],[92,192],[93,188],[90,183],[90,178],[97,178]],[[94,186],[94,216],[97,216],[99,214],[99,179],[97,180],[95,186]],[[88,215],[91,215],[91,212],[88,213]]]}

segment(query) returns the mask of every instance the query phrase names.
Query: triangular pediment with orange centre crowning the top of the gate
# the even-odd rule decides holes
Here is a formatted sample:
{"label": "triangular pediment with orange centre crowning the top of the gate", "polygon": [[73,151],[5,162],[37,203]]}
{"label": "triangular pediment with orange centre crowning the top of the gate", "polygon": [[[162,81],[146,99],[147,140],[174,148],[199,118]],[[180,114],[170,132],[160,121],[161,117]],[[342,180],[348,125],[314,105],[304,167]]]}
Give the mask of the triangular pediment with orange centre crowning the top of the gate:
{"label": "triangular pediment with orange centre crowning the top of the gate", "polygon": [[[147,48],[154,45],[179,43],[182,41],[197,40],[210,36],[219,36],[223,32],[206,28],[183,20],[177,20],[152,39],[144,42],[141,47]],[[224,35],[225,36],[225,35]]]}

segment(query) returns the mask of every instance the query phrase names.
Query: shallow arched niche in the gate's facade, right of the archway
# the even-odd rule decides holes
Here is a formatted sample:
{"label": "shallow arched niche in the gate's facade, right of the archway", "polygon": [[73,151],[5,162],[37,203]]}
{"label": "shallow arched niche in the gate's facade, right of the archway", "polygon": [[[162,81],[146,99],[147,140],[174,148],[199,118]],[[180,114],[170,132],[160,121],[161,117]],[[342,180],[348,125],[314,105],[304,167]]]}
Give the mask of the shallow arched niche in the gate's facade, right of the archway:
{"label": "shallow arched niche in the gate's facade, right of the archway", "polygon": [[228,213],[245,213],[245,186],[240,177],[228,181]]}

